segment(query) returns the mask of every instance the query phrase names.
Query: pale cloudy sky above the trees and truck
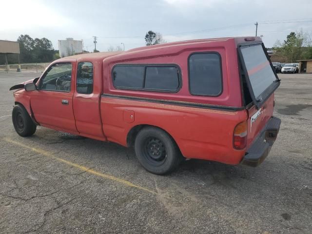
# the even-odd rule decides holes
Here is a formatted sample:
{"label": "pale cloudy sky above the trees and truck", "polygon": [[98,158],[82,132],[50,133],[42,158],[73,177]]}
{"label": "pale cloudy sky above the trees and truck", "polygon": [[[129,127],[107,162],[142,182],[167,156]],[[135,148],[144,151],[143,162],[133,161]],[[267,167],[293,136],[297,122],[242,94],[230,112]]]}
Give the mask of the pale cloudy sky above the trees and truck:
{"label": "pale cloudy sky above the trees and truck", "polygon": [[[7,10],[4,10],[7,9]],[[0,39],[23,34],[47,38],[58,50],[58,40],[83,40],[93,51],[110,46],[125,50],[145,45],[152,30],[167,42],[258,36],[266,47],[283,41],[292,31],[312,35],[312,0],[3,0]]]}

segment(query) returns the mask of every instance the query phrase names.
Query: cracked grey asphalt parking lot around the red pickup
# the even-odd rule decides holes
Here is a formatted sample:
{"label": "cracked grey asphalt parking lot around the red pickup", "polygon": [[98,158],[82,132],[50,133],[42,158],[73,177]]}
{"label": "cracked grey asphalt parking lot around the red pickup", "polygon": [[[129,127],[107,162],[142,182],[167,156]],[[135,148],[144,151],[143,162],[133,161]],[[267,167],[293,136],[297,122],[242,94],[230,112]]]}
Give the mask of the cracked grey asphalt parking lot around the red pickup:
{"label": "cracked grey asphalt parking lot around the red pickup", "polygon": [[0,73],[0,233],[312,233],[312,74],[279,74],[279,136],[258,168],[188,160],[146,172],[133,150],[38,127],[13,128]]}

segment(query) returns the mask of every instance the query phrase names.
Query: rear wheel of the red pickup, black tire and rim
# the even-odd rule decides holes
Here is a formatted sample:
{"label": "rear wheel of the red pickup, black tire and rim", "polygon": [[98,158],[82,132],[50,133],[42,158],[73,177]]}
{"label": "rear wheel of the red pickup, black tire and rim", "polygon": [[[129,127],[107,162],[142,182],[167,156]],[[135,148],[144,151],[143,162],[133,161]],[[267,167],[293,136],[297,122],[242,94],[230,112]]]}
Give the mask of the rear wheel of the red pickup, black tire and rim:
{"label": "rear wheel of the red pickup, black tire and rim", "polygon": [[155,127],[145,127],[137,134],[135,152],[141,165],[156,175],[172,172],[183,159],[173,138]]}

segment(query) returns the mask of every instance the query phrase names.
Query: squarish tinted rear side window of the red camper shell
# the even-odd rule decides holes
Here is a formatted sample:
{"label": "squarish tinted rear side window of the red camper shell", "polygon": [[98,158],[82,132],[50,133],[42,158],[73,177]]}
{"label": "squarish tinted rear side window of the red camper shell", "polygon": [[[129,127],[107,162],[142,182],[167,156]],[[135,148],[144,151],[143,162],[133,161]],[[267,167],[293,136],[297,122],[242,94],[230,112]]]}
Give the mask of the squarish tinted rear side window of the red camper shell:
{"label": "squarish tinted rear side window of the red camper shell", "polygon": [[190,93],[219,96],[222,93],[221,57],[217,53],[195,53],[189,57]]}

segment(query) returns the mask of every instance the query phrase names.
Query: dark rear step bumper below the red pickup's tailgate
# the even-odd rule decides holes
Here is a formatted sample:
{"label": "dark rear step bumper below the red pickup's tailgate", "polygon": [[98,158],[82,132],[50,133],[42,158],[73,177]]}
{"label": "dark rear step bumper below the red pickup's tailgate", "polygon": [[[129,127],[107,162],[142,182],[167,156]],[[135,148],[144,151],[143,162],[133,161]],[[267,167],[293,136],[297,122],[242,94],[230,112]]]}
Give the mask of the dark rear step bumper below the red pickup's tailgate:
{"label": "dark rear step bumper below the red pickup's tailgate", "polygon": [[281,120],[277,117],[271,117],[264,129],[254,140],[252,146],[248,149],[241,164],[256,167],[263,162],[269,155],[272,145],[277,137]]}

